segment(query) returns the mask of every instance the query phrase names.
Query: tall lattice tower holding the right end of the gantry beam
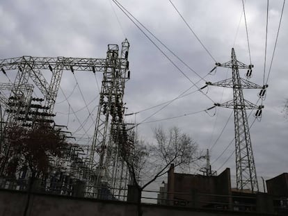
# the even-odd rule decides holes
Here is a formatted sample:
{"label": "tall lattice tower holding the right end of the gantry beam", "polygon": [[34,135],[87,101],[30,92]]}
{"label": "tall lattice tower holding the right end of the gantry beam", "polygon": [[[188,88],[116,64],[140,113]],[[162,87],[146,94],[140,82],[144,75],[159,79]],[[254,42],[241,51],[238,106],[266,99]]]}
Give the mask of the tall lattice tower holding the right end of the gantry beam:
{"label": "tall lattice tower holding the right end of the gantry beam", "polygon": [[[127,40],[122,42],[120,53],[118,45],[115,44],[109,45],[107,51],[91,152],[92,165],[95,165],[93,163],[95,153],[99,153],[97,186],[107,183],[121,188],[119,185],[121,182],[116,183],[116,181],[122,178],[124,171],[124,162],[120,159],[118,144],[126,134],[123,95],[125,82],[130,76],[128,52]],[[127,173],[127,170],[124,172]]]}

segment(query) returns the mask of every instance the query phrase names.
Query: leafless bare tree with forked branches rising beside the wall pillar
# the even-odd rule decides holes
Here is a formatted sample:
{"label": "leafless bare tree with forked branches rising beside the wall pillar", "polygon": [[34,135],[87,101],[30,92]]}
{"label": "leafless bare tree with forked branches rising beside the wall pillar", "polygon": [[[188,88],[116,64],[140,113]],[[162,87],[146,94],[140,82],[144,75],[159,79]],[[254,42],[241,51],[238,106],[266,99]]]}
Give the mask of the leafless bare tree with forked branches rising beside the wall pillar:
{"label": "leafless bare tree with forked branches rising beside the wall pillar", "polygon": [[[164,131],[161,127],[155,128],[155,144],[145,144],[139,141],[136,135],[131,135],[130,138],[130,142],[122,144],[120,152],[129,169],[133,185],[138,188],[138,215],[142,215],[142,191],[157,178],[166,174],[170,165],[186,169],[201,156],[198,156],[198,146],[193,139],[177,127],[170,128],[168,131]],[[149,180],[141,185],[139,176],[143,176],[141,172],[144,171],[147,177],[147,169],[150,170],[151,175]]]}

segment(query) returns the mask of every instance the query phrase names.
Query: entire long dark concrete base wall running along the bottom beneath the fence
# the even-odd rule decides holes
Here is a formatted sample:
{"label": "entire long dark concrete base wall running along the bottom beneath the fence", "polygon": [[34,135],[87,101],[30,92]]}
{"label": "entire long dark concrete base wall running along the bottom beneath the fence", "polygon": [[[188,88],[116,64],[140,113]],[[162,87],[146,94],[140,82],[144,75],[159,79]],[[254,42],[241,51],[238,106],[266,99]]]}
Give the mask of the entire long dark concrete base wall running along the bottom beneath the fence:
{"label": "entire long dark concrete base wall running along the bottom beneath the fence", "polygon": [[[12,190],[0,190],[0,216],[23,215],[27,194]],[[257,215],[255,213],[237,213],[218,210],[200,210],[173,206],[142,205],[143,216],[221,216],[221,215]],[[33,194],[28,214],[30,216],[136,216],[137,206],[122,201],[99,201],[61,197],[57,195]],[[263,215],[263,214],[262,214]],[[266,215],[266,214],[264,214]]]}

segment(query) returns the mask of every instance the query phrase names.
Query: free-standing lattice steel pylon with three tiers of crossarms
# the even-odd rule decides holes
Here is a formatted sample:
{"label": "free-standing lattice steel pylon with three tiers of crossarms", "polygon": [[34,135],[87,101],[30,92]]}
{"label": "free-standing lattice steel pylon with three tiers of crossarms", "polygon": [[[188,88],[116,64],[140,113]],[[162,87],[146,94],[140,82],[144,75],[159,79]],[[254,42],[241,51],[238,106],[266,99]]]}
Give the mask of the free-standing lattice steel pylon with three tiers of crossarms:
{"label": "free-standing lattice steel pylon with three tiers of crossarms", "polygon": [[[244,99],[243,89],[262,89],[262,93],[260,92],[259,96],[263,97],[263,90],[265,90],[268,86],[260,86],[240,77],[239,69],[248,69],[246,76],[250,77],[253,65],[246,65],[239,62],[233,48],[231,60],[223,64],[216,63],[216,67],[227,67],[232,69],[232,78],[216,83],[207,82],[207,85],[233,89],[233,100],[222,104],[215,103],[214,105],[234,109],[237,189],[250,189],[255,192],[259,190],[259,188],[246,110],[257,109],[255,116],[260,117],[262,108],[264,108],[264,106],[256,106],[250,101]],[[216,67],[214,67],[214,69],[216,69]]]}

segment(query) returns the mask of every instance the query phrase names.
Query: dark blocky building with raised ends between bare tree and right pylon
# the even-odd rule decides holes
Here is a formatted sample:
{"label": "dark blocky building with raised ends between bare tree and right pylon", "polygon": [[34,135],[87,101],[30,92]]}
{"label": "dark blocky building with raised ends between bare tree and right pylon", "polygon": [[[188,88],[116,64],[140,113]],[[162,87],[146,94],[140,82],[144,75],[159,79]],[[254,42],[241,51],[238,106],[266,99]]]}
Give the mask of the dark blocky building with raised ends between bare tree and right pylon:
{"label": "dark blocky building with raised ends between bare tree and right pylon", "polygon": [[[211,208],[211,203],[225,203],[223,208],[230,208],[231,183],[230,169],[227,168],[219,176],[202,176],[174,173],[173,165],[168,172],[168,192],[170,205],[186,205],[196,208]],[[186,194],[185,194],[186,193]],[[204,194],[227,195],[227,197],[207,196]],[[173,201],[174,200],[174,201]],[[179,200],[179,203],[177,201]],[[213,205],[213,204],[212,204]]]}

